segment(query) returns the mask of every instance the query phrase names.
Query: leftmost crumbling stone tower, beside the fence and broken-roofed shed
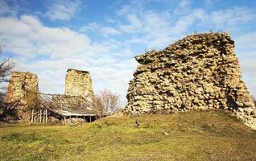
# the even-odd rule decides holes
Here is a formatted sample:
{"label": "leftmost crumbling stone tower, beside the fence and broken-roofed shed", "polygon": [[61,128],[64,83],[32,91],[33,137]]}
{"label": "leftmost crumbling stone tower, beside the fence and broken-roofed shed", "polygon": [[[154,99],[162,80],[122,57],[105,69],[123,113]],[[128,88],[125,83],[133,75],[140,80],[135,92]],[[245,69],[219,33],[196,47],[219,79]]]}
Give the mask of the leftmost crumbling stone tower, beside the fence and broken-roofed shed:
{"label": "leftmost crumbling stone tower, beside the fence and broken-roofed shed", "polygon": [[39,104],[38,77],[31,72],[12,72],[7,89],[7,101],[19,101],[17,117],[23,121],[29,119],[27,112]]}

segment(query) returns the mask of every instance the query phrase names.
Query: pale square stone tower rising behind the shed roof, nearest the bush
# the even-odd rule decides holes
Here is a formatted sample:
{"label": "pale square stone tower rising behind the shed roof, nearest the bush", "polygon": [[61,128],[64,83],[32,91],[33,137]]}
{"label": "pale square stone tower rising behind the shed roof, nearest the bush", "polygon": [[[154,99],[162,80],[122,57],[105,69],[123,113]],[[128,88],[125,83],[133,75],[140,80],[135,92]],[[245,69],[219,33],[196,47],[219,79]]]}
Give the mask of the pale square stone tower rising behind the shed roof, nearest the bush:
{"label": "pale square stone tower rising behind the shed roof, nearest the bush", "polygon": [[69,68],[65,78],[65,95],[93,101],[93,82],[89,72]]}

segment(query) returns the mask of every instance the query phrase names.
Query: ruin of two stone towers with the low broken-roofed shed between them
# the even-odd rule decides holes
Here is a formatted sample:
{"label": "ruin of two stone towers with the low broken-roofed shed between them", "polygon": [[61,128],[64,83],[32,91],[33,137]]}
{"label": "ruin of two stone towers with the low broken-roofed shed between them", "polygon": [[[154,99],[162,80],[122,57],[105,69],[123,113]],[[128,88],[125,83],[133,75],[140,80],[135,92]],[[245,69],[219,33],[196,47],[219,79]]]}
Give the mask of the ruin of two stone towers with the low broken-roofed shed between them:
{"label": "ruin of two stone towers with the low broken-roofed shed between them", "polygon": [[[17,118],[33,123],[56,122],[66,119],[93,121],[93,85],[89,72],[68,69],[65,94],[39,93],[39,81],[31,72],[12,72],[7,101],[15,104]],[[76,121],[75,120],[75,121]],[[72,121],[72,122],[73,122]]]}

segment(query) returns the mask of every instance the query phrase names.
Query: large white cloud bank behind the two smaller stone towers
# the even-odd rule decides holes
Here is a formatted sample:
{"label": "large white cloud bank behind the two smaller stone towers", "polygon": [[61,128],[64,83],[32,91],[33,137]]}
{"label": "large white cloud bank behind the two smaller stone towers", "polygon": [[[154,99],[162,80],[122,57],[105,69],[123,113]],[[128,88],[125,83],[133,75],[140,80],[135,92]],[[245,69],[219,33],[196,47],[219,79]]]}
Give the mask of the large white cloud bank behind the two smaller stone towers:
{"label": "large white cloud bank behind the two smaller stone towers", "polygon": [[[108,27],[101,28],[113,32]],[[125,101],[127,85],[136,68],[133,58],[127,62],[115,57],[117,53],[129,57],[130,51],[122,43],[114,39],[92,42],[87,35],[67,27],[46,27],[31,15],[0,18],[0,42],[5,45],[3,53],[16,57],[15,70],[38,74],[43,93],[64,93],[66,70],[77,68],[91,72],[95,90],[112,89]]]}

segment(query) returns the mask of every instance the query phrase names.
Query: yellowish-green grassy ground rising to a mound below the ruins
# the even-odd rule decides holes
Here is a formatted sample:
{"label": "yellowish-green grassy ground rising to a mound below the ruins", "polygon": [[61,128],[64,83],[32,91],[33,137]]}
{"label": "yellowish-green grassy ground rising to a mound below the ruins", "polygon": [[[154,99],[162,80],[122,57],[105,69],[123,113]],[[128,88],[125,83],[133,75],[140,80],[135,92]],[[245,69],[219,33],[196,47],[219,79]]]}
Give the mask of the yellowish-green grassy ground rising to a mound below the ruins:
{"label": "yellowish-green grassy ground rising to a mound below the ruins", "polygon": [[[135,123],[137,120],[137,124]],[[224,111],[0,124],[0,160],[256,160],[256,131]]]}

